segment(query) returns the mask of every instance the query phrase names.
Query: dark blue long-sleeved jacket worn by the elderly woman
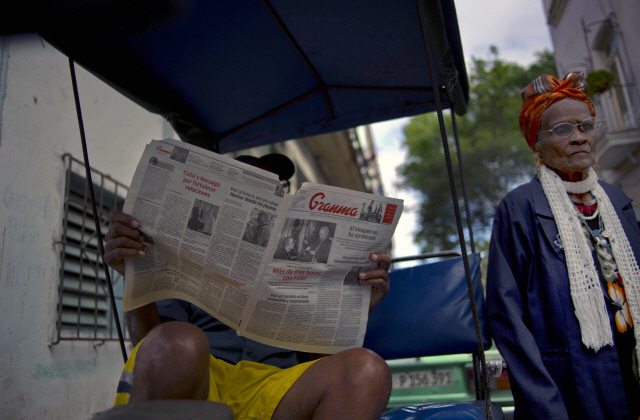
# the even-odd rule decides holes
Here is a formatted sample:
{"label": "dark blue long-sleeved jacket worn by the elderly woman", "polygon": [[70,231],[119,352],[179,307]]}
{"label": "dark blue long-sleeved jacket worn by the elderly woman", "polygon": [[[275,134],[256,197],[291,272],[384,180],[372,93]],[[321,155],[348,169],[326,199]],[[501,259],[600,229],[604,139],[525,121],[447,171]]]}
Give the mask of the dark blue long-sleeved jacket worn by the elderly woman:
{"label": "dark blue long-sleeved jacket worn by the elderly woman", "polygon": [[[640,229],[631,199],[617,187],[600,185],[640,261]],[[627,419],[616,349],[607,346],[596,353],[582,344],[557,235],[536,178],[511,191],[498,206],[489,251],[487,313],[507,362],[515,417]]]}

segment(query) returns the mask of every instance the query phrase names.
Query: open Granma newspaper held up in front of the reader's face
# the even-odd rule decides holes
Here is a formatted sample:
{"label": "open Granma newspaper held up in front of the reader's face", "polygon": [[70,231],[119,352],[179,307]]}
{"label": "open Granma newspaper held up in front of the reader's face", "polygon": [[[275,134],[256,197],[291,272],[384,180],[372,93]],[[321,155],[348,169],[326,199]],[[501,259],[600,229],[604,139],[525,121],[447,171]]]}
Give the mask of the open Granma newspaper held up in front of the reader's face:
{"label": "open Granma newspaper held up in front of the reader's face", "polygon": [[177,140],[142,155],[123,211],[149,252],[125,260],[125,311],[183,299],[238,334],[332,354],[362,346],[375,267],[402,200],[304,183]]}

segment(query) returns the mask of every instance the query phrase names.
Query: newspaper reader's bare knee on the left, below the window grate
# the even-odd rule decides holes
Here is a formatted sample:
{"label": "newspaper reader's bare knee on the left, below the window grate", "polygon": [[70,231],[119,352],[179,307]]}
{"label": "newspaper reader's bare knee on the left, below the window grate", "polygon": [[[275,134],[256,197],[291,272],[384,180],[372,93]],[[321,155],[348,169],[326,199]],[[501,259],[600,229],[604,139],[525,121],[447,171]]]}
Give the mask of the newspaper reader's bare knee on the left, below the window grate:
{"label": "newspaper reader's bare knee on the left, below the window grate", "polygon": [[208,395],[209,341],[202,330],[186,322],[151,330],[138,348],[129,402]]}

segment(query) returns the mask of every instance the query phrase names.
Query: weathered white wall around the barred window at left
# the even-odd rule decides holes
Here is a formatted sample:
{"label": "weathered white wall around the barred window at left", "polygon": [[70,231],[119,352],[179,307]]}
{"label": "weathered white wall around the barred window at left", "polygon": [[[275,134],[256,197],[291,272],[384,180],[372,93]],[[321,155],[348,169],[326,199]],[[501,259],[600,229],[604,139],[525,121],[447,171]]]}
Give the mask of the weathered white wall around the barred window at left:
{"label": "weathered white wall around the barred window at left", "polygon": [[[165,137],[166,123],[83,69],[76,73],[90,163],[128,185],[144,145]],[[68,60],[36,35],[12,36],[2,89],[0,418],[88,419],[112,404],[123,362],[117,342],[48,346],[55,337],[62,155],[82,159]]]}

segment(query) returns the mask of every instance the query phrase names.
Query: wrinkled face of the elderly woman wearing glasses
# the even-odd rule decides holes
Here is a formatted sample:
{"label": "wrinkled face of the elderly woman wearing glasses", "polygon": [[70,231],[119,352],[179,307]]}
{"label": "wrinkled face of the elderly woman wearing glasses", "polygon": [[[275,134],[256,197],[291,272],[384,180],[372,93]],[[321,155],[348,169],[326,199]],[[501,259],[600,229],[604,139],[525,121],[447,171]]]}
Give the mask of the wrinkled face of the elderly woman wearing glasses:
{"label": "wrinkled face of the elderly woman wearing glasses", "polygon": [[[579,124],[591,117],[589,106],[583,101],[563,99],[544,111],[540,131],[551,130],[556,124]],[[584,133],[579,127],[567,138],[559,138],[550,132],[540,133],[535,151],[549,169],[565,181],[581,181],[596,160],[595,131]]]}

